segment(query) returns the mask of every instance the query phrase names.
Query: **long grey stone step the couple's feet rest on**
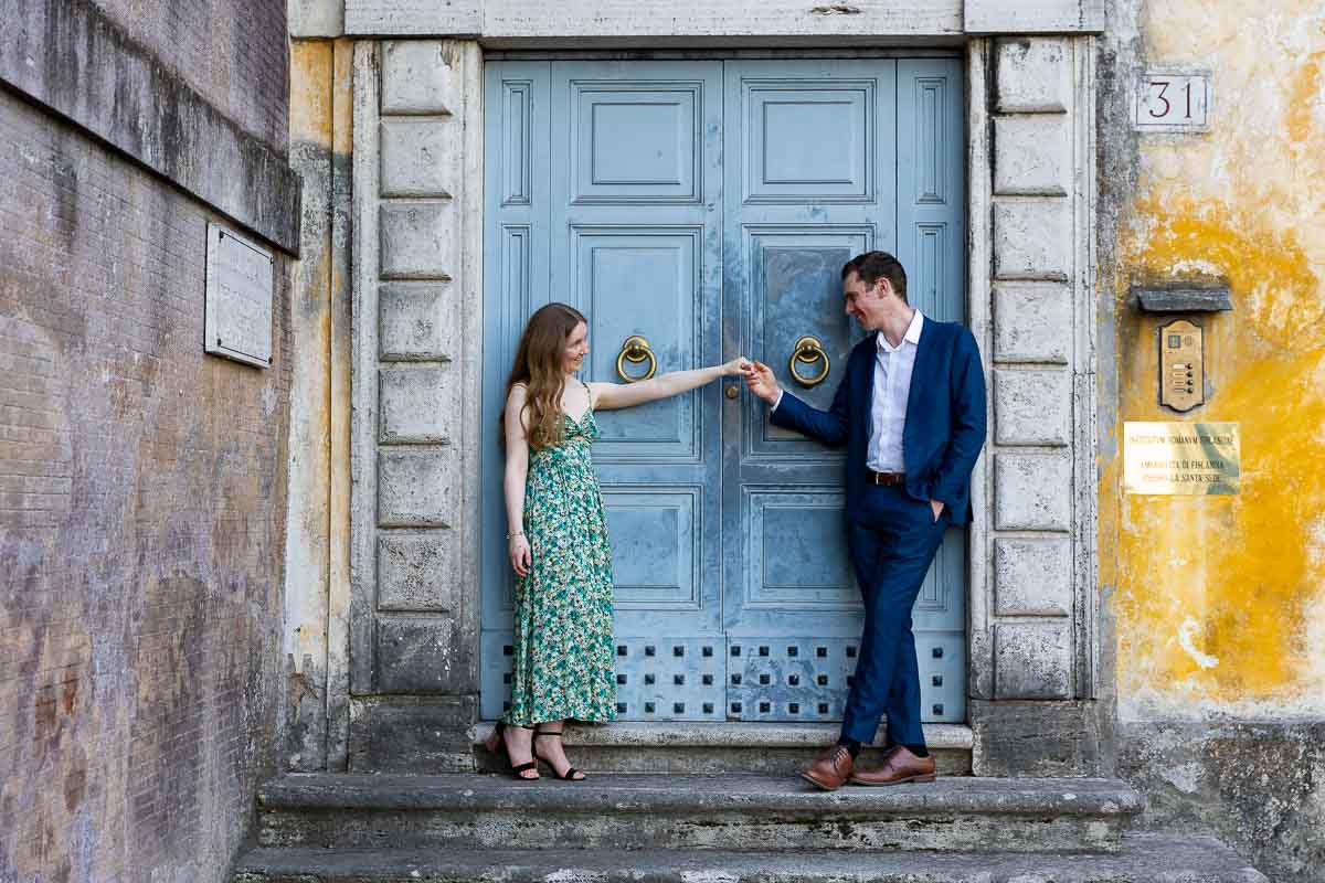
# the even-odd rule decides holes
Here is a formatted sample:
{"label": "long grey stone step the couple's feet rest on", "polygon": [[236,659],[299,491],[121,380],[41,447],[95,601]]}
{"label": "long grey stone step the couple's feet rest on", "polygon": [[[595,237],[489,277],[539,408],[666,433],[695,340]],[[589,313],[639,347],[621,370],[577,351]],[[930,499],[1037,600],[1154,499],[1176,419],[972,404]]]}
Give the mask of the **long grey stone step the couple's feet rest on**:
{"label": "long grey stone step the couple's feet rest on", "polygon": [[1145,800],[1101,778],[939,777],[820,792],[788,776],[290,773],[261,846],[1114,851]]}

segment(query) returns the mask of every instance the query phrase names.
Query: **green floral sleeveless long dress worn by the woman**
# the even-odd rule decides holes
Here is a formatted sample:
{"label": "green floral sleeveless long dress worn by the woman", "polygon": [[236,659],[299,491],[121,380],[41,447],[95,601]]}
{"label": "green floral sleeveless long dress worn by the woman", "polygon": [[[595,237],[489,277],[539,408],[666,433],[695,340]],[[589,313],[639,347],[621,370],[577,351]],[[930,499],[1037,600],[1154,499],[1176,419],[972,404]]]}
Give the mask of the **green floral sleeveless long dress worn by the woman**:
{"label": "green floral sleeveless long dress worn by the woman", "polygon": [[507,724],[616,718],[612,549],[590,458],[599,430],[592,409],[564,420],[564,441],[529,458],[525,535],[534,563],[515,580]]}

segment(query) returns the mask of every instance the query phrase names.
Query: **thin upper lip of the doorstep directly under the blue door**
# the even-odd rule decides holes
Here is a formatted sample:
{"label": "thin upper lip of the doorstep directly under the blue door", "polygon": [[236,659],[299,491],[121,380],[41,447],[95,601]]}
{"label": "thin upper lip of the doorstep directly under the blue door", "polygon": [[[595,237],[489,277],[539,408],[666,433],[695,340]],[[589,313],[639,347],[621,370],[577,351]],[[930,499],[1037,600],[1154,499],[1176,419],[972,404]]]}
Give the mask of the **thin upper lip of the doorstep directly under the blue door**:
{"label": "thin upper lip of the doorstep directly under the blue door", "polygon": [[[494,721],[474,727],[474,744],[492,735]],[[925,724],[925,743],[939,751],[970,751],[975,743],[966,724]],[[610,725],[570,724],[567,745],[648,747],[648,748],[819,748],[837,739],[840,727],[829,724],[783,723],[615,723]]]}

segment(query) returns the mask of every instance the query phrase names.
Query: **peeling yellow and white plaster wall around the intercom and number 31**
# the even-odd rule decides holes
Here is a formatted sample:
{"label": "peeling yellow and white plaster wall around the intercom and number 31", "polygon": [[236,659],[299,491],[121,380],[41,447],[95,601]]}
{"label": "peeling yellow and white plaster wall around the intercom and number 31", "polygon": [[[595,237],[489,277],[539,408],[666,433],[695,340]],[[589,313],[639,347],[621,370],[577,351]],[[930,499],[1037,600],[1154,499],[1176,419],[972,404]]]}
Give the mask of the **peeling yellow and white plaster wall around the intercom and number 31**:
{"label": "peeling yellow and white plaster wall around the intercom and number 31", "polygon": [[[1151,66],[1214,71],[1207,135],[1140,139],[1116,253],[1117,457],[1100,561],[1124,720],[1325,712],[1325,9],[1151,0]],[[1158,405],[1155,327],[1130,283],[1227,281],[1204,320],[1207,404]],[[1173,318],[1173,316],[1170,316]],[[1126,496],[1126,420],[1238,421],[1242,494]],[[1105,445],[1104,449],[1109,449]]]}

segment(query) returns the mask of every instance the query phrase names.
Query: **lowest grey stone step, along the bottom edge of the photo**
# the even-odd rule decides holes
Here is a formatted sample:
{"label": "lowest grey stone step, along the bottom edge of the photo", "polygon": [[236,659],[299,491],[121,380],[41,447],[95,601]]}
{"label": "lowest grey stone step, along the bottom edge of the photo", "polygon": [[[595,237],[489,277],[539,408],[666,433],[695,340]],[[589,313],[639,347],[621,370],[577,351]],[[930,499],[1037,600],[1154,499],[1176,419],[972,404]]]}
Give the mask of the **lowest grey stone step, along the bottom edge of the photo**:
{"label": "lowest grey stone step, along the bottom edge of the photo", "polygon": [[1267,883],[1214,838],[1129,834],[1112,855],[254,849],[232,883]]}

